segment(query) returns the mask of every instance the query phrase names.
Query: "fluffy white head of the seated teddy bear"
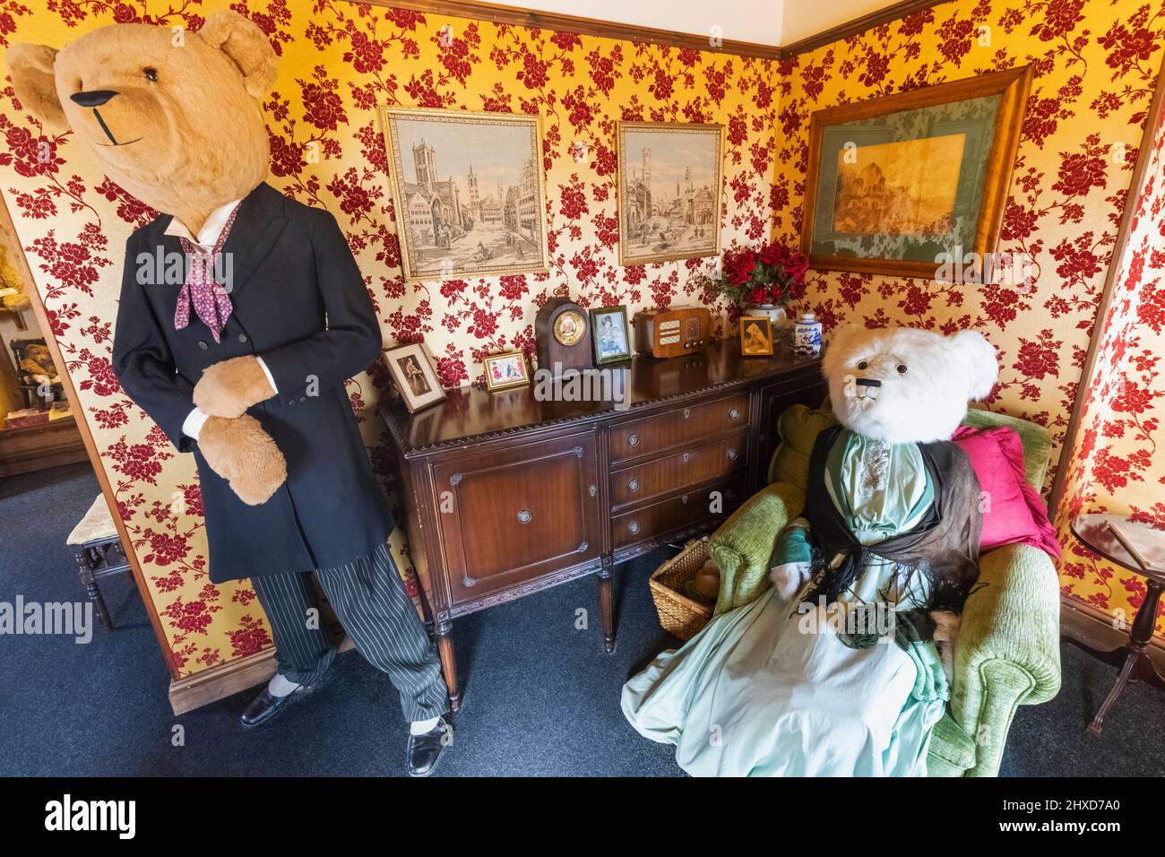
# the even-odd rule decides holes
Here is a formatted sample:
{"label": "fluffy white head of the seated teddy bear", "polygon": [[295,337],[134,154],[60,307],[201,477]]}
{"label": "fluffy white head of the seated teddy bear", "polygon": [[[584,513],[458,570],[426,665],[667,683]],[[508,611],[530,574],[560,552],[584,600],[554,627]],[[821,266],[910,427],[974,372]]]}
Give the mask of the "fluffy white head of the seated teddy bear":
{"label": "fluffy white head of the seated teddy bear", "polygon": [[833,413],[848,429],[888,443],[948,441],[1000,368],[982,333],[843,328],[822,358]]}

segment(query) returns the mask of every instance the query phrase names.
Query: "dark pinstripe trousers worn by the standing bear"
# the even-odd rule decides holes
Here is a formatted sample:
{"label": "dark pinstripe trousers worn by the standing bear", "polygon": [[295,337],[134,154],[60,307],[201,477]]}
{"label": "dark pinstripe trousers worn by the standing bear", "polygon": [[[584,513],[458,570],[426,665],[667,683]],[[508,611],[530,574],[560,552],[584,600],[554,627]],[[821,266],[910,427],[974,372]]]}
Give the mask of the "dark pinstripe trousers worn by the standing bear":
{"label": "dark pinstripe trousers worn by the standing bear", "polygon": [[250,578],[271,625],[280,674],[297,684],[315,684],[336,660],[327,631],[308,621],[308,611],[319,607],[312,574],[356,651],[388,673],[404,718],[428,721],[445,714],[440,661],[387,545],[345,566]]}

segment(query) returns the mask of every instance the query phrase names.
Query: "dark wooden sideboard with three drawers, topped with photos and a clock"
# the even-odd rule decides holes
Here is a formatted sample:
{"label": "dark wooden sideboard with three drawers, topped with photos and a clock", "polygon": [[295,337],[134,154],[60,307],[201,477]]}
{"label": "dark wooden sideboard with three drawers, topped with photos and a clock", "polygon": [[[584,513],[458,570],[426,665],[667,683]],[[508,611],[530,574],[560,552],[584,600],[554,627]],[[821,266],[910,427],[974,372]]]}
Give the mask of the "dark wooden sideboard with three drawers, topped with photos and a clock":
{"label": "dark wooden sideboard with three drawers, topped with photos and a clock", "polygon": [[622,409],[539,401],[532,386],[380,406],[454,710],[453,619],[595,574],[610,652],[613,568],[716,526],[763,485],[777,415],[825,396],[817,358],[742,358],[736,340],[614,371]]}

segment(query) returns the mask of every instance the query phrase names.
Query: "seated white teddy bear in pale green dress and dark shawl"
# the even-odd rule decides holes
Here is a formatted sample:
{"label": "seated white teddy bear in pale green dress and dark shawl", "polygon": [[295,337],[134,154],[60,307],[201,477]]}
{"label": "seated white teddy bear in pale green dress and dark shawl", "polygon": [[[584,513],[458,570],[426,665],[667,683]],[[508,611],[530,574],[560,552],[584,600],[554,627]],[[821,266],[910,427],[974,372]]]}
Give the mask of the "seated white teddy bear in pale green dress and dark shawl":
{"label": "seated white teddy bear in pale green dress and dark shawl", "polygon": [[623,686],[642,735],[705,775],[924,775],[949,698],[935,642],[977,577],[979,480],[949,438],[998,367],[979,333],[846,329],[776,585]]}

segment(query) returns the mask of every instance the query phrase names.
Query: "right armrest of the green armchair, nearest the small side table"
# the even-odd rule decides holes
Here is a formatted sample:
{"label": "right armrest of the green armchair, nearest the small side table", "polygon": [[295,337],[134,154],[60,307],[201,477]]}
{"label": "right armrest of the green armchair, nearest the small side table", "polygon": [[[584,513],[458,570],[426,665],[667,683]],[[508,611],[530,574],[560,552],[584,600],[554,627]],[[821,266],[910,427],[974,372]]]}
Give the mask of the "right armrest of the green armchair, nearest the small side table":
{"label": "right armrest of the green armchair, nearest the small side table", "polygon": [[1005,545],[979,561],[979,584],[963,605],[954,647],[947,716],[975,744],[966,777],[995,777],[1021,704],[1060,689],[1060,583],[1052,560]]}

